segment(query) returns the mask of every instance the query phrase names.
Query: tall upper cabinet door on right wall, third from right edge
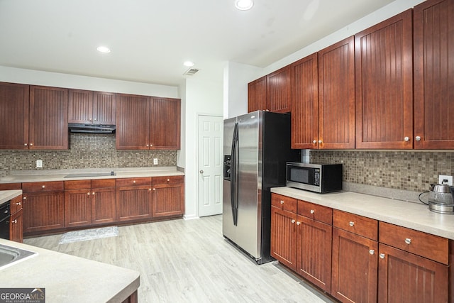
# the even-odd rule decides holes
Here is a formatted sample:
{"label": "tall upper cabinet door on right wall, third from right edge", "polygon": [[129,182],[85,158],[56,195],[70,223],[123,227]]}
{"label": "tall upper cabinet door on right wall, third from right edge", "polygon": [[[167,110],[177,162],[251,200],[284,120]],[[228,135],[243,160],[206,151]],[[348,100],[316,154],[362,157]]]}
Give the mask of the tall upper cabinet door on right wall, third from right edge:
{"label": "tall upper cabinet door on right wall, third from right edge", "polygon": [[353,36],[319,52],[319,148],[355,148]]}

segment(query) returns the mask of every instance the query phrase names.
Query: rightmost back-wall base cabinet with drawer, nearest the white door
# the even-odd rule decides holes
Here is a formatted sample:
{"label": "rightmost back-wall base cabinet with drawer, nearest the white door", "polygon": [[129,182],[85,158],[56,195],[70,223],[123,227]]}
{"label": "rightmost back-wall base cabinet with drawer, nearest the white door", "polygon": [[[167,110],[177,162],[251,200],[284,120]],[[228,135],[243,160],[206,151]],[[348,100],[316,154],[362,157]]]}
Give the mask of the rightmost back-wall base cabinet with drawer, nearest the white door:
{"label": "rightmost back-wall base cabinet with drawer, nearest the white door", "polygon": [[184,214],[184,176],[153,177],[153,218]]}

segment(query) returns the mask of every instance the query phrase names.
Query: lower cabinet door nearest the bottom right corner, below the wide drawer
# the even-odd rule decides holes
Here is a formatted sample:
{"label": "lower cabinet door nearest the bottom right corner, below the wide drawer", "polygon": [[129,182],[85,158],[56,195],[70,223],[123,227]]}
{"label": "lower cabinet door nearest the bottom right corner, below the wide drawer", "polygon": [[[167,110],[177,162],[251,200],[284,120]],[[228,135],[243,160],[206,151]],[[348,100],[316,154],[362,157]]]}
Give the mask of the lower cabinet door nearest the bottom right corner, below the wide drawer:
{"label": "lower cabinet door nearest the bottom right corner, below the wide drawer", "polygon": [[378,302],[448,302],[448,265],[380,243]]}

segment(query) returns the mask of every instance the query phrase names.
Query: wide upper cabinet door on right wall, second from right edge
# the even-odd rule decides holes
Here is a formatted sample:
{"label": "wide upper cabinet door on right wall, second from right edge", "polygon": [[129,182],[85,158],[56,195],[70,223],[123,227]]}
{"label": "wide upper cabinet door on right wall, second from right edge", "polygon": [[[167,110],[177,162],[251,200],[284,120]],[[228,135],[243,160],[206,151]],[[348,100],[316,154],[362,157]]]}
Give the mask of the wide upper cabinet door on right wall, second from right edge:
{"label": "wide upper cabinet door on right wall, second from right edge", "polygon": [[413,148],[411,9],[355,35],[356,148]]}

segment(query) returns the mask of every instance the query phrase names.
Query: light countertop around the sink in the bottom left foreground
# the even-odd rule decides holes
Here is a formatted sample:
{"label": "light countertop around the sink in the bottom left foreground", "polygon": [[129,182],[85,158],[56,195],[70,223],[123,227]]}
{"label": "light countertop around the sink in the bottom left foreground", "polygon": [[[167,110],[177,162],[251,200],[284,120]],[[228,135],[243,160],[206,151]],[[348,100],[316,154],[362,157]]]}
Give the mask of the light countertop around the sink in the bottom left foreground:
{"label": "light countertop around the sink in the bottom left foreground", "polygon": [[123,302],[140,286],[135,270],[0,239],[38,253],[0,269],[1,287],[45,288],[46,302]]}

